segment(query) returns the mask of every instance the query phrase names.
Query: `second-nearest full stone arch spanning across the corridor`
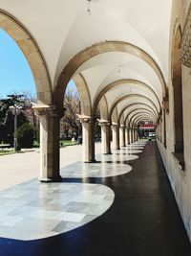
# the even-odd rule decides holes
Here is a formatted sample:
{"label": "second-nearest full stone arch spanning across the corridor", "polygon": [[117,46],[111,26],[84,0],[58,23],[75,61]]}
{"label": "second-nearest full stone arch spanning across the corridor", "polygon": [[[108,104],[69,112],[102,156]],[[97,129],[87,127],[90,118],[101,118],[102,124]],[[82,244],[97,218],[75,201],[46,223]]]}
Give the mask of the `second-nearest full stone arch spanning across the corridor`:
{"label": "second-nearest full stone arch spanning across the corridor", "polygon": [[142,81],[138,81],[138,80],[133,80],[133,79],[122,79],[122,80],[118,80],[118,81],[113,81],[111,83],[109,83],[108,85],[106,85],[99,93],[98,95],[96,96],[96,100],[95,100],[95,103],[93,105],[93,112],[96,111],[96,107],[101,99],[101,97],[103,95],[105,95],[109,90],[113,89],[114,87],[116,87],[117,85],[119,84],[122,84],[122,83],[129,83],[129,84],[126,84],[126,85],[130,85],[130,84],[138,84],[139,86],[142,86],[146,89],[148,89],[150,92],[153,93],[153,95],[156,97],[157,101],[158,101],[158,104],[160,106],[160,109],[161,109],[161,104],[159,102],[159,96],[157,95],[157,93],[149,86],[147,85],[145,82],[142,82]]}

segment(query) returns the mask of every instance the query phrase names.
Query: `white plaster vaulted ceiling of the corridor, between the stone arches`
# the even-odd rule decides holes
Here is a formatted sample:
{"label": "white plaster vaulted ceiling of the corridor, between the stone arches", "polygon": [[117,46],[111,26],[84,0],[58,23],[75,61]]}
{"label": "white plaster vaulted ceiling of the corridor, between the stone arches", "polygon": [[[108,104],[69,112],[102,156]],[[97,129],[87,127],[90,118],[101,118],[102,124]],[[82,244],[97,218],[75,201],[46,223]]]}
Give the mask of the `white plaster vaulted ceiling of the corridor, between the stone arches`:
{"label": "white plaster vaulted ceiling of the corridor, between the stone arches", "polygon": [[[47,63],[53,88],[71,58],[87,47],[110,40],[143,50],[158,64],[164,81],[168,81],[171,6],[172,0],[92,0],[89,15],[87,0],[0,0],[0,8],[17,18],[35,39]],[[75,75],[79,73],[87,81],[92,103],[107,84],[121,79],[148,84],[162,103],[159,76],[140,55],[99,54],[79,66]],[[159,109],[149,90],[135,84],[131,91],[127,87],[117,86],[106,93],[109,108],[119,97],[139,93],[153,100]],[[136,102],[151,105],[134,98],[117,105],[117,110]]]}

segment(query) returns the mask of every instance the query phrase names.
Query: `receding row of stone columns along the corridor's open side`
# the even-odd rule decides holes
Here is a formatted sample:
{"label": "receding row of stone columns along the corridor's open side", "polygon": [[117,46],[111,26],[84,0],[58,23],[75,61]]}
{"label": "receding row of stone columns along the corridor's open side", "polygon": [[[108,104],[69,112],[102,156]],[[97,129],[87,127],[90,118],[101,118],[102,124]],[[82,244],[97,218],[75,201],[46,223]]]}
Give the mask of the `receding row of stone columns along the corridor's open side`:
{"label": "receding row of stone columns along the corridor's open side", "polygon": [[[60,117],[54,106],[34,109],[40,120],[40,176],[41,181],[61,180],[59,168],[59,126]],[[92,117],[79,116],[83,134],[83,161],[95,162],[95,122]],[[101,151],[111,153],[111,131],[113,150],[119,150],[138,140],[137,128],[128,128],[107,120],[99,120],[101,127]]]}

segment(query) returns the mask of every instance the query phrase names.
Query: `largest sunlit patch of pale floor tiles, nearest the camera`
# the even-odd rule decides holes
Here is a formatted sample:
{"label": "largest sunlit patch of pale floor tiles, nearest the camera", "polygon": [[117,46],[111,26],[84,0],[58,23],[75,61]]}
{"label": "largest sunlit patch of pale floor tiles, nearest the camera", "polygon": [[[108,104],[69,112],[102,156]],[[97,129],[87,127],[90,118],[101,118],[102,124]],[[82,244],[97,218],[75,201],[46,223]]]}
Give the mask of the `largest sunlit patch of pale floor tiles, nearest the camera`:
{"label": "largest sunlit patch of pale floor tiles, nearest the camera", "polygon": [[32,179],[0,193],[0,237],[27,241],[67,232],[102,215],[114,198],[100,184]]}

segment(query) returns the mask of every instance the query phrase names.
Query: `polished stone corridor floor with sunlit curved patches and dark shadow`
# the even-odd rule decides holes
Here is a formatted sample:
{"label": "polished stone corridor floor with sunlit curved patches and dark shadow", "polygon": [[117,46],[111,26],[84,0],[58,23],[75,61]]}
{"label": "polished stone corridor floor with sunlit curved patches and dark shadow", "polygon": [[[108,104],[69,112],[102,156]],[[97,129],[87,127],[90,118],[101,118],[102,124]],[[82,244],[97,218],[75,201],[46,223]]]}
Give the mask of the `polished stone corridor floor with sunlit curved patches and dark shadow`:
{"label": "polished stone corridor floor with sunlit curved patches and dark shadow", "polygon": [[156,143],[96,158],[86,175],[72,175],[78,162],[61,183],[32,179],[0,193],[0,232],[17,228],[0,234],[1,256],[191,255]]}

